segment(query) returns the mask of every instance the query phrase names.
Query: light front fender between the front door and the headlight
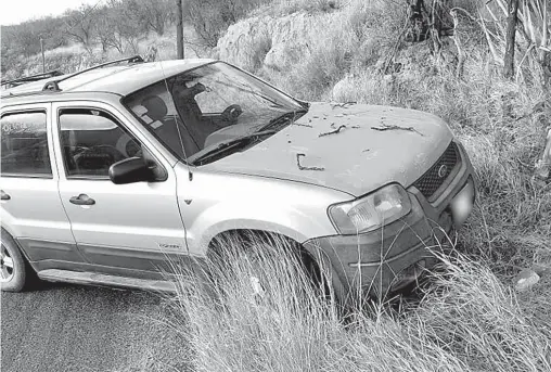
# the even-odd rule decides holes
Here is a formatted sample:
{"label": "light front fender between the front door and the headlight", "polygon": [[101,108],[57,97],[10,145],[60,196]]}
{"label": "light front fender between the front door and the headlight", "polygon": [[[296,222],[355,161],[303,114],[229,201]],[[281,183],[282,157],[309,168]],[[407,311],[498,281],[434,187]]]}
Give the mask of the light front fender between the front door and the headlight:
{"label": "light front fender between the front door and the headlight", "polygon": [[273,178],[194,171],[178,179],[178,204],[188,249],[203,256],[208,243],[228,230],[277,232],[303,243],[335,234],[326,210],[349,200],[339,191]]}

